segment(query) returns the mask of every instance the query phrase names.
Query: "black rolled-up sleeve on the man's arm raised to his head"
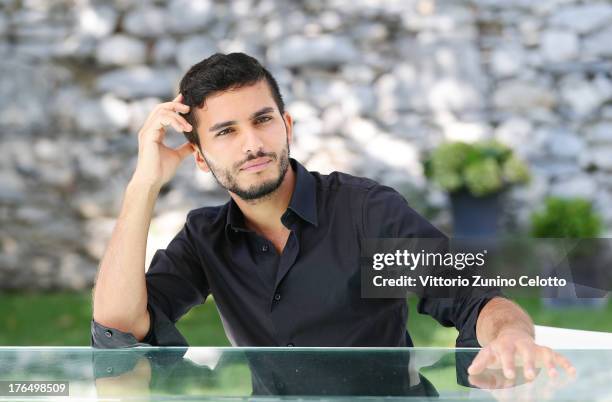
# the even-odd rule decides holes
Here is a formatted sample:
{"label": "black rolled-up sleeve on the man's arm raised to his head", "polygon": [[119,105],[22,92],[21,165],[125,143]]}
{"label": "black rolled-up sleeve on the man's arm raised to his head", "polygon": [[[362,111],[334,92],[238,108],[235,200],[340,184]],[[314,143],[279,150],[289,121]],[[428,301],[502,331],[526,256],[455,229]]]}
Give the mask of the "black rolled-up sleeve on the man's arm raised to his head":
{"label": "black rolled-up sleeve on the man's arm raised to his head", "polygon": [[151,326],[140,342],[131,333],[91,321],[91,344],[97,348],[188,346],[176,322],[209,294],[202,261],[194,246],[195,228],[187,222],[165,250],[157,250],[145,274]]}

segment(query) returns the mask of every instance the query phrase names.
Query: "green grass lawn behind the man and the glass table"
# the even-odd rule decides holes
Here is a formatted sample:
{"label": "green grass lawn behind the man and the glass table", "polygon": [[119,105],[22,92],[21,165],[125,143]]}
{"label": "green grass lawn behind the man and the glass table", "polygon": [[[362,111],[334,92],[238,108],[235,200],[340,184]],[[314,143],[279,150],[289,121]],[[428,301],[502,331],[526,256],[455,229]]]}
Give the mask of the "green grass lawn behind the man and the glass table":
{"label": "green grass lawn behind the man and the glass table", "polygon": [[[540,325],[612,332],[612,303],[601,310],[559,309],[541,306],[539,300],[517,302]],[[416,346],[453,346],[457,331],[416,312],[409,302],[408,328]],[[88,346],[91,294],[0,293],[0,346]],[[228,346],[212,300],[192,309],[177,324],[193,346]]]}

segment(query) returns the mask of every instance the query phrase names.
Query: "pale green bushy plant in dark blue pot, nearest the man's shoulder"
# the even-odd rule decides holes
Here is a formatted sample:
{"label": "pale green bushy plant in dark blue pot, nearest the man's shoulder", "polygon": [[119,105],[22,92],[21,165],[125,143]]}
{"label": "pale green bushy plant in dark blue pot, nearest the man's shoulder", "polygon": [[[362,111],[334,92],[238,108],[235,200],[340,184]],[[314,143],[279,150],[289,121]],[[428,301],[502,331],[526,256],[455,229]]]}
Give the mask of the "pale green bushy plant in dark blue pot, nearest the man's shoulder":
{"label": "pale green bushy plant in dark blue pot, nearest the man's shoulder", "polygon": [[458,237],[495,236],[501,195],[530,177],[512,149],[494,140],[443,143],[423,165],[426,177],[450,194]]}

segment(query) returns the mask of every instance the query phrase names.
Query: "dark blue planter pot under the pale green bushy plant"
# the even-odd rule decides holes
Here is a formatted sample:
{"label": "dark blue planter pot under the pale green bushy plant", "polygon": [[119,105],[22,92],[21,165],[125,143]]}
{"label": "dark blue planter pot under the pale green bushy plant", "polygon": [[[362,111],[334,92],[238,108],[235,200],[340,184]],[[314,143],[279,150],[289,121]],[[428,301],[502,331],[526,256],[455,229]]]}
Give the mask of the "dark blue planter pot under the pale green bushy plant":
{"label": "dark blue planter pot under the pale green bushy plant", "polygon": [[495,237],[501,215],[501,192],[475,197],[466,190],[451,193],[455,237]]}

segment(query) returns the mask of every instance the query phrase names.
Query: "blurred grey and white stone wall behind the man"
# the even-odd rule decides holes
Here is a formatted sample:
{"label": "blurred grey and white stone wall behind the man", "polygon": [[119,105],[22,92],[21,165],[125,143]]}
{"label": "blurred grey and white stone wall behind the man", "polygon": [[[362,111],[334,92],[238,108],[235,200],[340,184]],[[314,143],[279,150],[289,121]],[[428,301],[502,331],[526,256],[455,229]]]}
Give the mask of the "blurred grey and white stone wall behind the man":
{"label": "blurred grey and white stone wall behind the man", "polygon": [[[550,194],[592,199],[612,225],[608,1],[2,0],[0,38],[0,289],[91,287],[136,132],[215,51],[270,68],[311,170],[390,184],[446,227],[419,158],[495,137],[534,172],[512,193],[515,226]],[[148,258],[189,209],[226,199],[184,163]]]}

